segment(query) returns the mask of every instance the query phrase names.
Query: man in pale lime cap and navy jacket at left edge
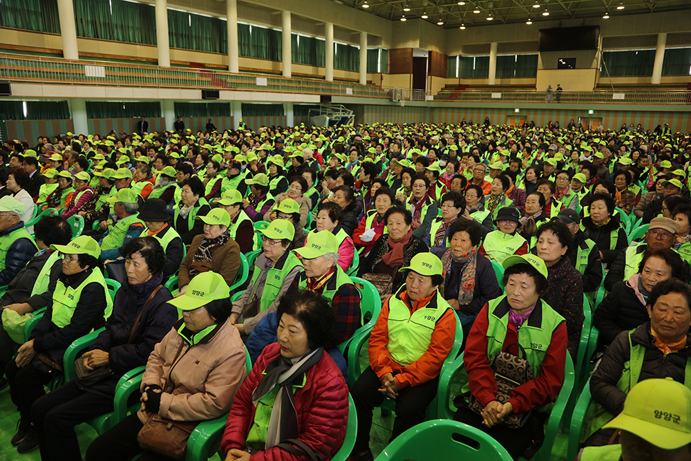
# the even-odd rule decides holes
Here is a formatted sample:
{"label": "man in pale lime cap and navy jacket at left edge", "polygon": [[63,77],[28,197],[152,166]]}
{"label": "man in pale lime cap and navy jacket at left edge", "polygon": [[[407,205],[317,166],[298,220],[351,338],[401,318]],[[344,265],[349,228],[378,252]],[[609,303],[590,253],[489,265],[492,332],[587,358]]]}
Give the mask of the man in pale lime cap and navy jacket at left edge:
{"label": "man in pale lime cap and navy jacket at left edge", "polygon": [[7,285],[36,253],[33,238],[24,229],[19,200],[0,198],[0,285]]}

